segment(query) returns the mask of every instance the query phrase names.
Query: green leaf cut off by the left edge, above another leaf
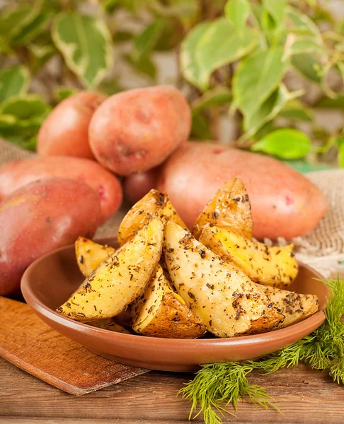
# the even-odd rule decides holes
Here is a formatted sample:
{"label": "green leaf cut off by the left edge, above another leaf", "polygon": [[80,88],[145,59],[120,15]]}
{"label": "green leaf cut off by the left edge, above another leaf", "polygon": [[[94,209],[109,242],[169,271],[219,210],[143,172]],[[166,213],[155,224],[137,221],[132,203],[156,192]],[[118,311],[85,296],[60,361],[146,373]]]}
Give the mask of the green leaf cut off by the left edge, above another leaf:
{"label": "green leaf cut off by the left edge, above another leaf", "polygon": [[0,70],[0,102],[24,94],[30,85],[30,74],[24,66]]}

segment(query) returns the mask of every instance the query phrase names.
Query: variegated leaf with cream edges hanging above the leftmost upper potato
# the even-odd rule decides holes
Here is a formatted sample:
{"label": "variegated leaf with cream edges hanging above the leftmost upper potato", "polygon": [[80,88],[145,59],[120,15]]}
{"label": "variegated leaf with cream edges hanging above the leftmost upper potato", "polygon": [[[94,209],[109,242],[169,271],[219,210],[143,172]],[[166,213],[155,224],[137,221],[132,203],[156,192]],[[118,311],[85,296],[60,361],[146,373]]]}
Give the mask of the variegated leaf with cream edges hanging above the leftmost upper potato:
{"label": "variegated leaf with cream edges hanging above the leftmost upper potato", "polygon": [[59,13],[52,39],[67,66],[87,88],[94,88],[112,65],[112,42],[103,20],[79,13]]}

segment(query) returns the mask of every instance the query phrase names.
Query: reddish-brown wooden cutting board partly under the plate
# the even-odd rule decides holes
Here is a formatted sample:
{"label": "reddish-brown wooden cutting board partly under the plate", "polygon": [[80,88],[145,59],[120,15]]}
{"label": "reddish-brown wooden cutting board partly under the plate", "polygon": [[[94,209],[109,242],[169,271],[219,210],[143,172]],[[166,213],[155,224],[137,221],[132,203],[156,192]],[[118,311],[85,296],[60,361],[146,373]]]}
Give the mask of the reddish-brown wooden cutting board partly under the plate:
{"label": "reddish-brown wooden cutting board partly under the plate", "polygon": [[88,351],[47,326],[25,303],[1,296],[0,322],[0,356],[70,394],[86,394],[149,371]]}

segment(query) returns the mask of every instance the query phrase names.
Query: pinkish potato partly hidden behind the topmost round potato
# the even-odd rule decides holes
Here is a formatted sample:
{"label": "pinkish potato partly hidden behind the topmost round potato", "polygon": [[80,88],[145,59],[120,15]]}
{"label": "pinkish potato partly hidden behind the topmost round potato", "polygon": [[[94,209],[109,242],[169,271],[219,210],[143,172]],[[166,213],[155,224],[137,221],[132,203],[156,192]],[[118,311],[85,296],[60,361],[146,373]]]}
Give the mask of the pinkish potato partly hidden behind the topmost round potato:
{"label": "pinkish potato partly hidden behind the topmost round potato", "polygon": [[100,93],[81,91],[59,103],[40,127],[38,153],[94,159],[88,144],[88,124],[104,100]]}

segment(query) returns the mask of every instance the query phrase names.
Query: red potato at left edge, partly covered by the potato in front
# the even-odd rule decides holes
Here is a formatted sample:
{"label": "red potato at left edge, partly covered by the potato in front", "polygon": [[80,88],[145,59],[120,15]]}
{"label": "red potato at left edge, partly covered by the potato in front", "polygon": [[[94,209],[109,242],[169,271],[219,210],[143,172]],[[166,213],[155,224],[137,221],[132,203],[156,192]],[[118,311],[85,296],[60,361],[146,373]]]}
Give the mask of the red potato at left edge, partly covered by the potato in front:
{"label": "red potato at left edge, partly covered by the potato in front", "polygon": [[16,160],[0,167],[0,199],[29,182],[47,177],[75,178],[95,189],[101,198],[102,222],[113,216],[122,203],[122,187],[115,175],[94,160],[71,156]]}

